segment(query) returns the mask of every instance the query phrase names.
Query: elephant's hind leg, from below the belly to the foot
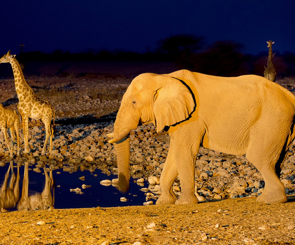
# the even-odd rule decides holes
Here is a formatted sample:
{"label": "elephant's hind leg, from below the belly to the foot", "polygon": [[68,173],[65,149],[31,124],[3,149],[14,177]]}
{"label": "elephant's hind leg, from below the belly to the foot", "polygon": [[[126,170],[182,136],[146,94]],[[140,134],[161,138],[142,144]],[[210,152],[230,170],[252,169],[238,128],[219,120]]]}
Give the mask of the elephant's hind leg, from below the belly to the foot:
{"label": "elephant's hind leg, from below the belly to the foot", "polygon": [[254,145],[247,150],[246,156],[258,169],[265,181],[264,191],[258,196],[257,202],[270,204],[286,202],[285,186],[277,173],[281,172],[281,166],[287,156],[289,145],[287,146],[286,143],[278,145],[275,142],[269,144],[263,142],[262,145]]}

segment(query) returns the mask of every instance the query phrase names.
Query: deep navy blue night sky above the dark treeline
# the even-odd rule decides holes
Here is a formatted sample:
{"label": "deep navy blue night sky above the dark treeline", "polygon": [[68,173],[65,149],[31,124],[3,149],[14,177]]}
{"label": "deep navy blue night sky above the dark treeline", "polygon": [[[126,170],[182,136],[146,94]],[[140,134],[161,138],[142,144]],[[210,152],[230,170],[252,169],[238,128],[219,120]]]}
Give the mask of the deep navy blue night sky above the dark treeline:
{"label": "deep navy blue night sky above the dark treeline", "polygon": [[[5,3],[3,3],[5,2]],[[244,53],[294,52],[295,1],[9,0],[1,1],[0,52],[153,51],[176,34],[205,44],[233,40]],[[2,56],[2,55],[1,55]]]}

